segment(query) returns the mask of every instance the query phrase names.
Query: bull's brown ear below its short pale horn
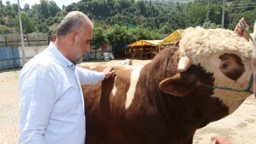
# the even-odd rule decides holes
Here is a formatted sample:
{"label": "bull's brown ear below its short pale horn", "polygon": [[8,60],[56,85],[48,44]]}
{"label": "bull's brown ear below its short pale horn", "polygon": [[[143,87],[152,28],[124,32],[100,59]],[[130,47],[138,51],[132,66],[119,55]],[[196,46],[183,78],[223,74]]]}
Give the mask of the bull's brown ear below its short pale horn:
{"label": "bull's brown ear below its short pale horn", "polygon": [[159,87],[166,94],[182,97],[194,90],[199,83],[199,79],[195,74],[182,72],[162,80],[159,83]]}

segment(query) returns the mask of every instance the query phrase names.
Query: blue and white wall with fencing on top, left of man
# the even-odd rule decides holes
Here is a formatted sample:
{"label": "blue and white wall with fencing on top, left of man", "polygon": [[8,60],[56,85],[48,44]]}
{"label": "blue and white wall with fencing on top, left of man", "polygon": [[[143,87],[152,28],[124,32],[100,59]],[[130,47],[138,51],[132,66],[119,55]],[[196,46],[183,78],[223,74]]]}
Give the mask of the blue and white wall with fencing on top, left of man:
{"label": "blue and white wall with fencing on top, left of man", "polygon": [[[25,62],[45,50],[49,44],[46,33],[23,34]],[[0,34],[0,70],[21,68],[24,65],[20,34]]]}

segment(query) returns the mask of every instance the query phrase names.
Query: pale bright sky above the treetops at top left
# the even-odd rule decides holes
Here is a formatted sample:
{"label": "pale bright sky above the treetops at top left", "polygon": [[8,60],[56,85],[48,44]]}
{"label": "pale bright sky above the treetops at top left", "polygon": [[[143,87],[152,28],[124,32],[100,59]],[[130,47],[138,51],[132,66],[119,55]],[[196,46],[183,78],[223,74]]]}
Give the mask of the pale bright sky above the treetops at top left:
{"label": "pale bright sky above the treetops at top left", "polygon": [[[13,4],[13,3],[18,3],[18,0],[2,0],[2,4],[6,5],[6,1],[9,1],[10,4]],[[52,0],[54,2],[56,2],[57,6],[62,9],[62,6],[67,6],[67,5],[70,5],[72,2],[79,2],[80,0]],[[19,0],[19,5],[23,8],[23,6],[25,5],[25,3],[29,4],[30,5],[30,8],[31,6],[33,6],[34,4],[38,4],[40,3],[40,0]]]}

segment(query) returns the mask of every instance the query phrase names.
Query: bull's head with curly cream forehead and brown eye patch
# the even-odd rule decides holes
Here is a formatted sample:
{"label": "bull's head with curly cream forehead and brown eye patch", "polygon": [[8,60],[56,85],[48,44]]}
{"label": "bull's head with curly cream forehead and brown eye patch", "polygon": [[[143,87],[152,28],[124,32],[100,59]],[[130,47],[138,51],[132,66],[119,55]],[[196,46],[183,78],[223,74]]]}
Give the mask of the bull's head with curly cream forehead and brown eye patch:
{"label": "bull's head with curly cream forehead and brown eye patch", "polygon": [[[214,94],[211,97],[222,100],[232,113],[251,94],[252,51],[252,42],[238,37],[231,30],[188,28],[183,33],[179,47],[178,70],[181,73],[163,80],[160,83],[160,88],[175,96],[185,95],[184,91],[190,91],[190,87],[187,88],[188,90],[182,88],[179,91],[177,85],[180,84],[184,87],[186,83],[190,82],[196,86],[198,82],[194,82],[193,77],[190,77],[188,81],[184,76],[186,74],[183,74],[182,77],[181,74],[186,73],[191,65],[201,66],[206,73],[213,74],[214,77],[214,86],[208,86],[214,89]],[[256,60],[254,64],[256,69]],[[256,70],[254,72],[256,75]]]}

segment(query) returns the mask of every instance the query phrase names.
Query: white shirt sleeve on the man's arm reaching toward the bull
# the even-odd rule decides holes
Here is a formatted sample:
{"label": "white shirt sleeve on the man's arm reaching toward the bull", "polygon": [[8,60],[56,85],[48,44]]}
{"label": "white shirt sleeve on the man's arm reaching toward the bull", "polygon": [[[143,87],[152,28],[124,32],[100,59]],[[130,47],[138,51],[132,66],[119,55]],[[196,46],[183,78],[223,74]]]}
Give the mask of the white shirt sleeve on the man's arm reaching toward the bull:
{"label": "white shirt sleeve on the man's arm reaching toward the bull", "polygon": [[105,78],[103,72],[97,72],[94,70],[83,69],[82,67],[76,67],[78,72],[78,78],[81,85],[95,85]]}

